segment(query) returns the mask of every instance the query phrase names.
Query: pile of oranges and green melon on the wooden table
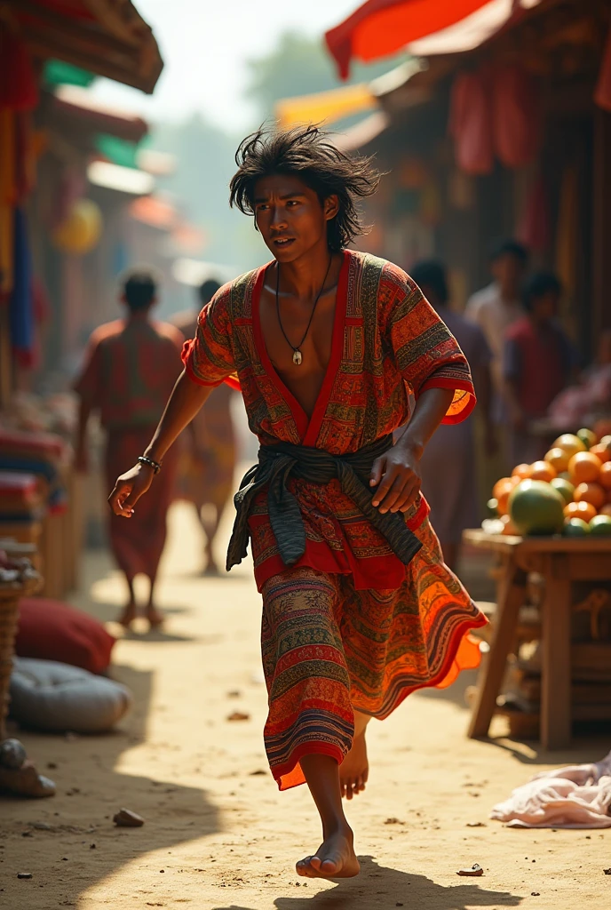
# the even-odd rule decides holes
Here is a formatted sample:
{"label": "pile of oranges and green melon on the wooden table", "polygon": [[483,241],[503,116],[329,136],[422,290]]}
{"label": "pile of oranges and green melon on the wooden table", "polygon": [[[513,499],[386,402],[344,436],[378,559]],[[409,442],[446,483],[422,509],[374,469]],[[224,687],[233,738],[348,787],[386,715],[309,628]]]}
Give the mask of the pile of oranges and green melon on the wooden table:
{"label": "pile of oranges and green melon on the wooden table", "polygon": [[611,435],[564,433],[544,460],[498,480],[492,495],[488,533],[611,536]]}

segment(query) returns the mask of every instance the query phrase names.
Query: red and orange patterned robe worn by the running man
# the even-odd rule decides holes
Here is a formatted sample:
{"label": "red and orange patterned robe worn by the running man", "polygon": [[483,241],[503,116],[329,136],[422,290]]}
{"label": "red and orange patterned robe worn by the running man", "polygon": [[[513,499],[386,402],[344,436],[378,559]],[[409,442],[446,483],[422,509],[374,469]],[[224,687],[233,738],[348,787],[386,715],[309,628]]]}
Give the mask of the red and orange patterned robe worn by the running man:
{"label": "red and orange patterned robe worn by the running man", "polygon": [[[473,410],[466,359],[416,284],[385,260],[346,250],[331,359],[308,419],[265,350],[259,300],[266,268],[218,291],[183,355],[195,382],[239,380],[262,445],[356,451],[405,424],[426,389],[454,389],[445,422]],[[342,761],[353,709],[386,717],[409,692],[476,665],[465,633],[486,622],[443,564],[422,496],[406,522],[423,548],[406,567],[337,480],[289,478],[288,487],[305,523],[305,553],[295,567],[287,570],[280,557],[265,491],[249,519],[264,595],[265,744],[282,788],[303,782],[298,763],[307,752]]]}

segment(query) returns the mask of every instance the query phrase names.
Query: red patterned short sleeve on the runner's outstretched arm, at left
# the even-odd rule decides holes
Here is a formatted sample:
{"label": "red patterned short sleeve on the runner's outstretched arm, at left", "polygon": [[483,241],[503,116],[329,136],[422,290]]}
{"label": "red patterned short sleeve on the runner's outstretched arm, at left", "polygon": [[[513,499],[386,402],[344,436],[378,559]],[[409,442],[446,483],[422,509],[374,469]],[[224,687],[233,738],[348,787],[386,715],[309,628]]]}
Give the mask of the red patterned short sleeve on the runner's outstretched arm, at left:
{"label": "red patterned short sleeve on the runner's outstretched arm, at left", "polygon": [[236,379],[229,313],[230,288],[221,288],[197,318],[195,339],[185,341],[183,363],[198,385],[217,386]]}

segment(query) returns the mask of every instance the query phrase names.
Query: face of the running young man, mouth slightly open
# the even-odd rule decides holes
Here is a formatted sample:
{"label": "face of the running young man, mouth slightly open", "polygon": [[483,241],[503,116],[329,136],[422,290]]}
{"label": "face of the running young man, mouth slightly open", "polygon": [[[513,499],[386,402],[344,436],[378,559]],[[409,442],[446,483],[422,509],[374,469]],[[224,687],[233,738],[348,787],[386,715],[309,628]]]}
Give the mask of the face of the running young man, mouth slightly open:
{"label": "face of the running young man, mouth slightly open", "polygon": [[257,180],[254,208],[266,247],[278,262],[294,262],[316,245],[326,249],[326,223],[337,214],[337,197],[321,202],[299,177],[274,174]]}

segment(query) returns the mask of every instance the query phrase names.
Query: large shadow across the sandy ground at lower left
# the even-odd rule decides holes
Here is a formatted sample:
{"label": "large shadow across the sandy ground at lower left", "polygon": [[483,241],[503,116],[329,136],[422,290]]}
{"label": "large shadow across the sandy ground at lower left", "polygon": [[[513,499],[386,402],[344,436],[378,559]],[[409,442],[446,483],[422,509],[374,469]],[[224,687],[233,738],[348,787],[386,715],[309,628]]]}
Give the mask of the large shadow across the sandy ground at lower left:
{"label": "large shadow across the sandy ground at lower left", "polygon": [[[97,578],[104,572],[101,561]],[[95,576],[85,580],[85,591],[91,581]],[[82,594],[72,601],[93,615],[99,606]],[[135,637],[151,644],[180,641],[163,632]],[[0,796],[2,906],[56,910],[79,905],[82,895],[123,865],[138,857],[146,862],[145,856],[155,850],[171,852],[176,844],[219,830],[218,812],[205,791],[176,783],[181,778],[178,767],[173,780],[155,776],[156,756],[175,753],[175,743],[155,739],[147,743],[150,776],[121,771],[124,753],[145,743],[155,672],[114,664],[111,674],[134,694],[133,709],[114,733],[61,736],[12,731],[39,772],[55,781],[57,793],[34,801]],[[144,826],[115,827],[113,816],[123,807],[144,815]],[[33,881],[17,880],[22,872],[32,873]],[[26,898],[24,885],[31,885]],[[45,889],[54,891],[51,903]]]}

